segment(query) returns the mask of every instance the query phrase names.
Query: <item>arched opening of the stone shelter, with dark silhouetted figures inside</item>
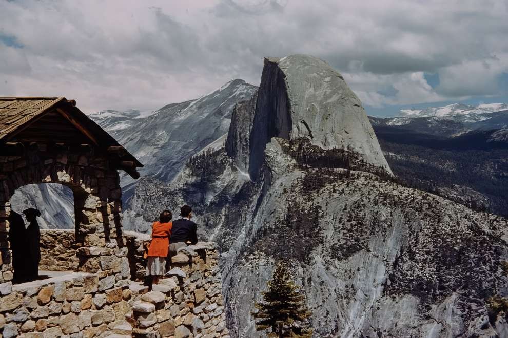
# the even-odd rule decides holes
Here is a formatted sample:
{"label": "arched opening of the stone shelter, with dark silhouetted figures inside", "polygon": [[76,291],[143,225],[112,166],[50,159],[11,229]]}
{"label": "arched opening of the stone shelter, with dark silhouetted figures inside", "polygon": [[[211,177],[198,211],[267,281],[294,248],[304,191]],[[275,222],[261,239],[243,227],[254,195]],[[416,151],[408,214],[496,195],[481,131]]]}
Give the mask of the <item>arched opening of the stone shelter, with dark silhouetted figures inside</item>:
{"label": "arched opening of the stone shelter, with dark silhouetted figures inside", "polygon": [[[75,241],[77,220],[88,193],[65,183],[31,183],[18,187],[11,196],[8,242],[13,284],[60,277],[79,270]],[[38,210],[37,215],[24,210]],[[87,222],[89,223],[89,222]]]}

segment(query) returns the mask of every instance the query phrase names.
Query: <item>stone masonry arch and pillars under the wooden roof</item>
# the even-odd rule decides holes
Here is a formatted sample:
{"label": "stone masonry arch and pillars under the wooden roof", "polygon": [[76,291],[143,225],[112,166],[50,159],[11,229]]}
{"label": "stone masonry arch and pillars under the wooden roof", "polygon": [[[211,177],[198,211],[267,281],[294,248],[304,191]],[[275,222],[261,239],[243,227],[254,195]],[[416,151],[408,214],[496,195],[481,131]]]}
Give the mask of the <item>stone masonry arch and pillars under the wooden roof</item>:
{"label": "stone masonry arch and pillars under the wooden roof", "polygon": [[[51,144],[30,147],[22,156],[0,156],[0,282],[12,278],[9,250],[9,200],[15,190],[32,183],[60,183],[74,194],[75,239],[84,246],[121,239],[122,193],[118,171],[107,154],[91,146]],[[111,233],[110,227],[115,231]],[[121,243],[119,243],[121,244]],[[5,272],[5,273],[4,273]],[[3,276],[3,275],[6,276]]]}

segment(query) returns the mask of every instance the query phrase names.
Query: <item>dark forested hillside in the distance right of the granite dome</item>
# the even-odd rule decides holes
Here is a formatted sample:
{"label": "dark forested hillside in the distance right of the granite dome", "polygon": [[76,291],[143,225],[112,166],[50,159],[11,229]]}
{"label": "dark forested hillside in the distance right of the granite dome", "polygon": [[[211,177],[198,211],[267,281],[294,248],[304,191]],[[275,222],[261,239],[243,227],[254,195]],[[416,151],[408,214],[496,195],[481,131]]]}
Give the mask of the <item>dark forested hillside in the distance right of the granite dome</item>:
{"label": "dark forested hillside in the distance right of the granite dome", "polygon": [[493,131],[445,138],[400,126],[374,126],[400,183],[476,210],[508,216],[508,143]]}

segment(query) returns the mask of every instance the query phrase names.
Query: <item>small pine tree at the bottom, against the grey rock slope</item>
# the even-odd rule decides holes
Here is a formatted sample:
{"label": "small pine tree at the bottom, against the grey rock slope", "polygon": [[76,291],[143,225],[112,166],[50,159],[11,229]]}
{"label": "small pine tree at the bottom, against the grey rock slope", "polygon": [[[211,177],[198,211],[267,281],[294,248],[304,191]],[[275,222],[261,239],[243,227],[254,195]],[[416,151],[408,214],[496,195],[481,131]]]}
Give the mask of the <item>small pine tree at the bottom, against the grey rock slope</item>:
{"label": "small pine tree at the bottom, against the grey rock slope", "polygon": [[260,319],[256,330],[271,328],[269,337],[310,338],[312,329],[305,324],[311,313],[299,287],[291,280],[289,265],[284,261],[276,262],[272,279],[266,285],[268,290],[262,292],[263,301],[255,305],[258,311],[252,312],[254,318]]}

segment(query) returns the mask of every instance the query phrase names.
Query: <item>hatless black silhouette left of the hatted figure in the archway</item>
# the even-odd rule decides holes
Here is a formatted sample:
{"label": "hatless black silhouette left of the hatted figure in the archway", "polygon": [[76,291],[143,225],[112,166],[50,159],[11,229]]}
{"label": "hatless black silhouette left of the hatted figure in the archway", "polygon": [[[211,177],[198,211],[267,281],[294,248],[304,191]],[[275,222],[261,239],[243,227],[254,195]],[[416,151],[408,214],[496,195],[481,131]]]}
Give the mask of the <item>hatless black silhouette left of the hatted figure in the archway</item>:
{"label": "hatless black silhouette left of the hatted figure in the archway", "polygon": [[28,281],[25,222],[23,221],[23,217],[14,210],[11,210],[8,221],[9,243],[12,251],[12,268],[14,270],[12,282],[18,284]]}

